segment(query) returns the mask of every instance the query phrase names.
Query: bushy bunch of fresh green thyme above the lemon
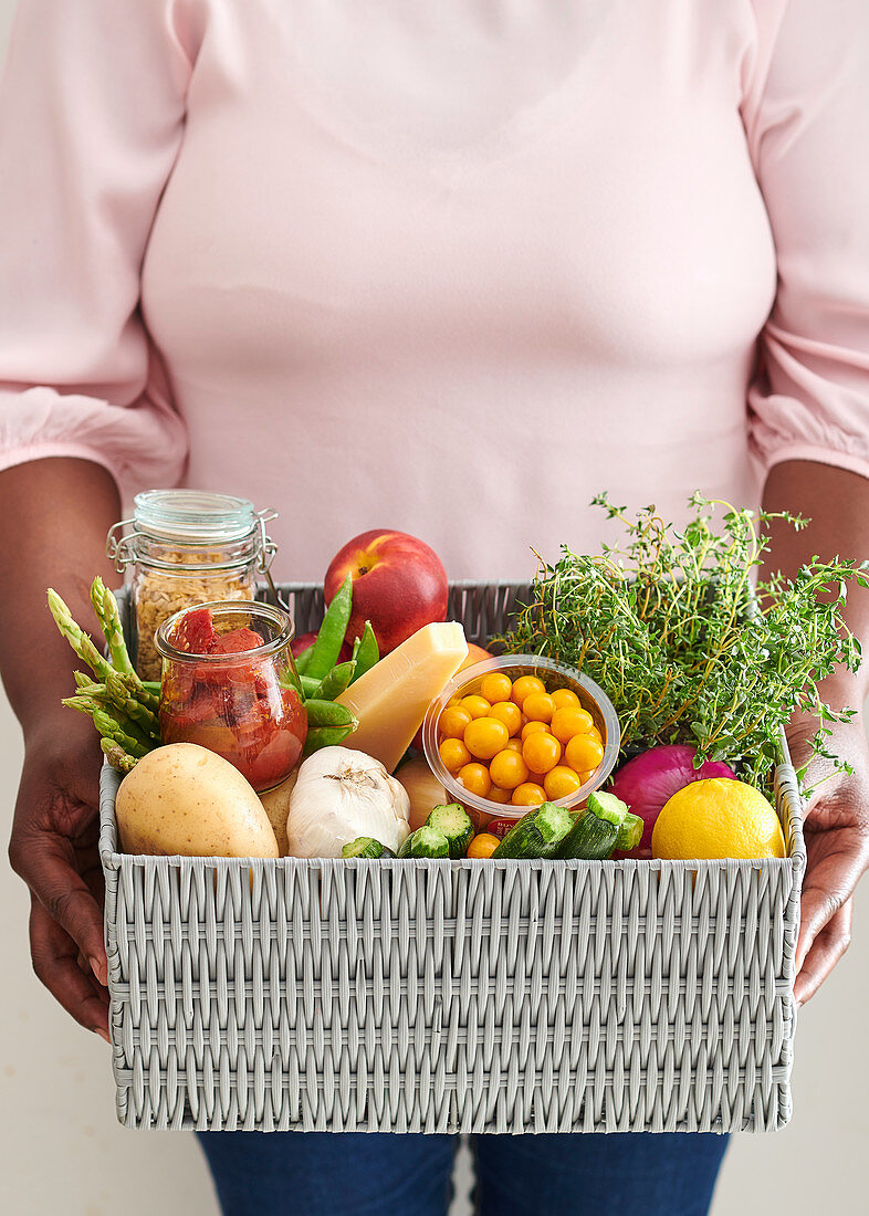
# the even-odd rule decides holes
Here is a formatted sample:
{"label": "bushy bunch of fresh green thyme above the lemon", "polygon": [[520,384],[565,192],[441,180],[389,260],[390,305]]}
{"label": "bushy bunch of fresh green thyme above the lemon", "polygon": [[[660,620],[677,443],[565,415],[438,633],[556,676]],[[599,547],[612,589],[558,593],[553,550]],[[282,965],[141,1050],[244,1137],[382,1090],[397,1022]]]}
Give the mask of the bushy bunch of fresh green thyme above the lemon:
{"label": "bushy bunch of fresh green thyme above the lemon", "polygon": [[826,741],[829,724],[854,710],[831,709],[818,683],[840,664],[859,665],[842,609],[851,580],[869,585],[865,564],[814,557],[794,580],[758,578],[752,589],[768,520],[796,529],[807,520],[694,495],[693,518],[679,530],[654,507],[630,519],[605,495],[593,505],[622,524],[623,542],[596,557],[565,546],[554,565],[541,563],[507,648],[558,658],[596,680],[613,700],[625,748],[692,743],[698,765],[724,760],[763,784],[781,728],[807,711],[819,722],[814,753],[847,770]]}

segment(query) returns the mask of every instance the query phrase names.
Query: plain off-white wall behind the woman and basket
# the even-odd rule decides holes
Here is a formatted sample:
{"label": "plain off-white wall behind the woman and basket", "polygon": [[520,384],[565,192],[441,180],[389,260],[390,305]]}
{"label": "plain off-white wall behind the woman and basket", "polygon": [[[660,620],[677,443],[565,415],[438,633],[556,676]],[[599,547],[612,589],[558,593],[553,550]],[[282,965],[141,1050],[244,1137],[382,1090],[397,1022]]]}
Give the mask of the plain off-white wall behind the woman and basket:
{"label": "plain off-white wall behind the woman and basket", "polygon": [[[16,0],[0,0],[0,61],[15,7]],[[10,822],[21,755],[17,724],[0,694],[0,806]],[[713,1216],[865,1210],[868,890],[857,901],[850,952],[800,1014],[794,1120],[777,1135],[734,1138]],[[136,1133],[115,1124],[108,1047],[74,1025],[34,978],[27,913],[23,884],[0,866],[4,1210],[16,1216],[118,1211],[125,1216],[153,1216],[154,1211],[214,1216],[216,1201],[192,1135]],[[459,1171],[461,1190],[464,1177],[465,1171]],[[452,1216],[469,1211],[459,1200]]]}

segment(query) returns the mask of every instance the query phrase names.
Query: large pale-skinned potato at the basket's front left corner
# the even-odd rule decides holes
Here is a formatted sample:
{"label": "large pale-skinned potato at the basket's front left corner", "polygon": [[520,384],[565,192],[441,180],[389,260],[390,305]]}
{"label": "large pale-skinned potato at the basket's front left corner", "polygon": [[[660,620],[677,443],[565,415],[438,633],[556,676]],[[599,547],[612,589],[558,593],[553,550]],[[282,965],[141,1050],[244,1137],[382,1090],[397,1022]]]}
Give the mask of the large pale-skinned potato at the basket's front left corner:
{"label": "large pale-skinned potato at the basket's front left corner", "polygon": [[277,857],[256,794],[228,760],[170,743],[124,777],[115,804],[124,852],[187,857]]}

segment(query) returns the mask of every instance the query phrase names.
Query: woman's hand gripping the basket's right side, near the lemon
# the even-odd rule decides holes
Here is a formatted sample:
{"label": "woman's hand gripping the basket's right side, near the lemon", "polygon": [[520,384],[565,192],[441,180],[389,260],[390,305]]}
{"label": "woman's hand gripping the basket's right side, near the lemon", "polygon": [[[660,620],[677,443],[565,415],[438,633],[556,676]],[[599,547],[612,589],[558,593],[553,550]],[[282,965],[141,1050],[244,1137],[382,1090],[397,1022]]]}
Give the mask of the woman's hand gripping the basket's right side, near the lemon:
{"label": "woman's hand gripping the basket's right side, near the lemon", "polygon": [[[852,895],[869,867],[869,748],[863,724],[834,722],[829,750],[853,767],[834,772],[808,800],[803,832],[808,865],[802,884],[802,916],[796,947],[794,995],[800,1004],[823,984],[851,941]],[[788,731],[794,767],[809,754],[814,725]],[[831,771],[816,758],[803,784],[816,786]]]}

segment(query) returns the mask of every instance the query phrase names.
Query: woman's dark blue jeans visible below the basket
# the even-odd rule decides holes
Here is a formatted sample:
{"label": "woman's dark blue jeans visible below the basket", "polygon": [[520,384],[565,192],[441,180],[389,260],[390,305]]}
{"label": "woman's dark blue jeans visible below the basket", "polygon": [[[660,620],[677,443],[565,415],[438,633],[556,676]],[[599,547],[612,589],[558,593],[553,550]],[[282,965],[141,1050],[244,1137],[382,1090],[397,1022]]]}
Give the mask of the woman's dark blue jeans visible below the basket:
{"label": "woman's dark blue jeans visible below the basket", "polygon": [[[445,1216],[453,1136],[203,1132],[225,1216]],[[483,1216],[705,1216],[727,1136],[475,1136]]]}

